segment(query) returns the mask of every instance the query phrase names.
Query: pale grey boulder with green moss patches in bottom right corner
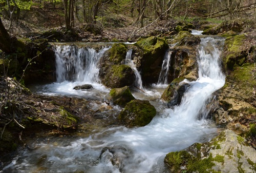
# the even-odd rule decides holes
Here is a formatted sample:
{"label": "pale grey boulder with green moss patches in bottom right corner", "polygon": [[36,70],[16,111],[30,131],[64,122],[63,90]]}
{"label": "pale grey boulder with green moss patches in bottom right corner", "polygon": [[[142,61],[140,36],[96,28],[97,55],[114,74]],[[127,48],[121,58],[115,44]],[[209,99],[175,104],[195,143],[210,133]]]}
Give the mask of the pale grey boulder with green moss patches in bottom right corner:
{"label": "pale grey boulder with green moss patches in bottom right corner", "polygon": [[255,172],[255,156],[256,150],[244,138],[224,130],[210,142],[168,153],[164,162],[172,172]]}

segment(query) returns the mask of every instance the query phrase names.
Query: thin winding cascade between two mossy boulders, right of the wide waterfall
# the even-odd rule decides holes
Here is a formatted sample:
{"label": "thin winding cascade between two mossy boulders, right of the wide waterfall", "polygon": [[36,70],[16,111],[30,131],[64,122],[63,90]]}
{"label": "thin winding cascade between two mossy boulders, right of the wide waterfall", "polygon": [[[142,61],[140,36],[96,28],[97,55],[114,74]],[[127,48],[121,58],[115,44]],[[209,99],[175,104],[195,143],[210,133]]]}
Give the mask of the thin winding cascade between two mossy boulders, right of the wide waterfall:
{"label": "thin winding cascade between two mossy boulders, right of the wide waterfall", "polygon": [[134,82],[134,85],[141,89],[141,90],[145,90],[145,88],[143,87],[142,85],[142,80],[141,80],[141,75],[140,75],[140,72],[137,70],[136,68],[136,65],[133,63],[132,61],[132,52],[133,52],[133,49],[129,49],[126,53],[126,57],[125,57],[125,64],[127,66],[130,66],[134,73],[135,73],[135,82]]}

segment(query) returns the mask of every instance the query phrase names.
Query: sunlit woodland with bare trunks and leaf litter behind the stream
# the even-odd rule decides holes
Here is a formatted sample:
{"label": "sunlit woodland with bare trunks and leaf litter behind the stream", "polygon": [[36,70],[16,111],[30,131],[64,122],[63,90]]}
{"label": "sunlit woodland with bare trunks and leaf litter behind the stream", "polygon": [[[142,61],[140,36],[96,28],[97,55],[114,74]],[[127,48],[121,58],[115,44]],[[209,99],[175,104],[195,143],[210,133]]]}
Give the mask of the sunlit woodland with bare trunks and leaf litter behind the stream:
{"label": "sunlit woodland with bare trunks and leaf litter behind the stream", "polygon": [[145,27],[163,20],[220,23],[256,15],[255,0],[1,0],[0,7],[5,27],[14,36],[54,27],[83,26],[97,34],[105,28]]}

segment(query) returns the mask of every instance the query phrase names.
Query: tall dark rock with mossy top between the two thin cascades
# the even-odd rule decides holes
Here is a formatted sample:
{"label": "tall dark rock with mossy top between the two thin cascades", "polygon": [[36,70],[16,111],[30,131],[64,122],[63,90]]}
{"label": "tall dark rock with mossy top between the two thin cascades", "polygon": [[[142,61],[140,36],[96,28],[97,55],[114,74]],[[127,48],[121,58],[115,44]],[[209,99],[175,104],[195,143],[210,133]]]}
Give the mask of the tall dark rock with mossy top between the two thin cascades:
{"label": "tall dark rock with mossy top between the two thin cascades", "polygon": [[157,82],[165,52],[169,48],[168,44],[164,39],[151,36],[146,39],[140,39],[134,45],[139,48],[137,50],[139,57],[135,64],[141,71],[143,82]]}

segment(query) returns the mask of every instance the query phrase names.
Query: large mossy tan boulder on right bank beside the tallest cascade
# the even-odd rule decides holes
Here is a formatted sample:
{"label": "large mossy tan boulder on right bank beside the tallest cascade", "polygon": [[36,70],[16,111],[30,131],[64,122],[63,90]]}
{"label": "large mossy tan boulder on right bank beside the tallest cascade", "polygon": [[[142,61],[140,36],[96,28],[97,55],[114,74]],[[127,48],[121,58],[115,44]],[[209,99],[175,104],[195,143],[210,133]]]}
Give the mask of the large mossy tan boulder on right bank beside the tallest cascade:
{"label": "large mossy tan boulder on right bank beside the tallest cascade", "polygon": [[256,80],[254,64],[234,67],[226,77],[226,84],[219,91],[212,107],[212,117],[217,125],[226,126],[244,134],[249,143],[256,147],[256,136],[246,136],[256,118]]}

